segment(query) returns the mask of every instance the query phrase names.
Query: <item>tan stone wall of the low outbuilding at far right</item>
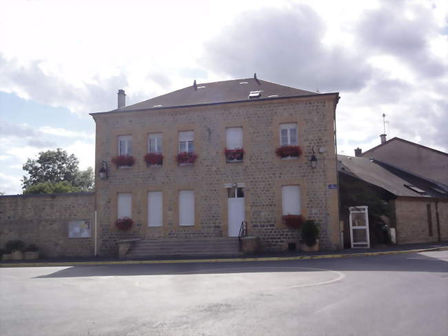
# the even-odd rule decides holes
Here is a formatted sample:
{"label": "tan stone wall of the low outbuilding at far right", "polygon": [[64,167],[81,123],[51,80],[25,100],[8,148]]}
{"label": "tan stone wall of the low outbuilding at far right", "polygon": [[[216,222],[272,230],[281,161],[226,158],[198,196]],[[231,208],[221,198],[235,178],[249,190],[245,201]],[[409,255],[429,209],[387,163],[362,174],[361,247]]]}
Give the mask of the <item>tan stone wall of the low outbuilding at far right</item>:
{"label": "tan stone wall of the low outbuilding at far right", "polygon": [[448,240],[447,199],[436,201],[418,197],[398,197],[394,200],[394,206],[397,244],[438,241],[438,230],[440,240]]}

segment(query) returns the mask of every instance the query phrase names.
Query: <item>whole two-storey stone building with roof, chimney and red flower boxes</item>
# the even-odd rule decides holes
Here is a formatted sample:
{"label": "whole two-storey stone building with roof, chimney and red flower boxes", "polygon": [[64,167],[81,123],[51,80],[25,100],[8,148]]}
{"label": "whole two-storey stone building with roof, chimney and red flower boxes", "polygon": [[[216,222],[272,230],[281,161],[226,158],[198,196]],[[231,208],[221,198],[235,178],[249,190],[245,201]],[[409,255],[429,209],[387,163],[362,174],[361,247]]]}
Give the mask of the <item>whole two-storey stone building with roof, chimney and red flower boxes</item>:
{"label": "whole two-storey stone building with roof, chimney and red flower boxes", "polygon": [[121,239],[231,239],[242,221],[263,250],[294,248],[283,215],[315,219],[322,248],[340,248],[338,99],[256,76],[131,106],[119,90],[119,108],[91,114],[99,254]]}

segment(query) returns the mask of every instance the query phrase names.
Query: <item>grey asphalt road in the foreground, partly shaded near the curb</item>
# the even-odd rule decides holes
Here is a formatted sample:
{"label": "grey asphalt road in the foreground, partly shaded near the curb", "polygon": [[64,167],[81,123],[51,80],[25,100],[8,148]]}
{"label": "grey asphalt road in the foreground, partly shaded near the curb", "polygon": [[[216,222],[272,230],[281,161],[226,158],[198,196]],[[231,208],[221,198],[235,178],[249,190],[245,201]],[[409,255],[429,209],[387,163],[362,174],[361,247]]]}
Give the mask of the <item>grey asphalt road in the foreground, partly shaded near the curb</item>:
{"label": "grey asphalt road in the foreground, partly shaded near the curb", "polygon": [[448,335],[448,251],[0,269],[0,335]]}

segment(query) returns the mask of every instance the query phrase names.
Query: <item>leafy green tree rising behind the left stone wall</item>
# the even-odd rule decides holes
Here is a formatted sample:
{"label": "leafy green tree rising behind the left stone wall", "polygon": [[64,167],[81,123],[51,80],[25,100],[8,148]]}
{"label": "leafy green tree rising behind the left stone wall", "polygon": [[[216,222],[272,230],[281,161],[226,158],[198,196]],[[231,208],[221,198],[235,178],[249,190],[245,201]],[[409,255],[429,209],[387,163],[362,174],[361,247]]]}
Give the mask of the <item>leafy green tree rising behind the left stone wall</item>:
{"label": "leafy green tree rising behind the left stone wall", "polygon": [[[37,159],[28,159],[23,170],[23,193],[79,192],[92,190],[94,173],[92,168],[79,170],[79,160],[65,150],[39,152]],[[65,182],[64,184],[59,184]],[[58,191],[59,190],[59,191]]]}

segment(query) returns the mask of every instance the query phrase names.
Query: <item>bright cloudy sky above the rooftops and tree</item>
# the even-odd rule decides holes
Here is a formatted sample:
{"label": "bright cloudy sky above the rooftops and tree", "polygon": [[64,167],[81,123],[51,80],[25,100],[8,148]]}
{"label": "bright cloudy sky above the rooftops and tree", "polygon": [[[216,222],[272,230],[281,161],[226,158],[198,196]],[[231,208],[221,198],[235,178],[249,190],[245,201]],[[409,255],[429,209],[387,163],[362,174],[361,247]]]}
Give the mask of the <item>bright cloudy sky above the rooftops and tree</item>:
{"label": "bright cloudy sky above the rooftops and tree", "polygon": [[448,152],[448,1],[0,0],[0,192],[63,148],[94,166],[90,112],[249,78],[340,92],[338,152],[401,137]]}

